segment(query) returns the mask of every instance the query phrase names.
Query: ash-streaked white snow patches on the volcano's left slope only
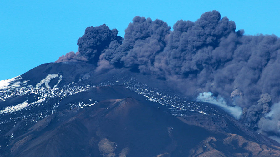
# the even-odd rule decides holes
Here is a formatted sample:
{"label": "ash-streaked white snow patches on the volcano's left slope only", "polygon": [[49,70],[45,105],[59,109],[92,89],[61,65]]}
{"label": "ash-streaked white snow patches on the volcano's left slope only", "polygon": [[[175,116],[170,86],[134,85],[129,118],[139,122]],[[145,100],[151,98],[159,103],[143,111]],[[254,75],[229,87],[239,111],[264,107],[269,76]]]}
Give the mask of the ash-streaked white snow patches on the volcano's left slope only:
{"label": "ash-streaked white snow patches on the volcano's left slope only", "polygon": [[[35,109],[37,107],[41,107],[41,108],[43,107],[44,109],[40,113],[33,113],[28,115],[28,117],[40,117],[43,113],[47,114],[47,113],[55,112],[57,110],[57,107],[59,107],[59,102],[62,100],[62,98],[80,93],[82,91],[88,90],[89,88],[93,87],[90,85],[76,86],[74,82],[72,82],[69,85],[65,85],[63,87],[57,87],[60,81],[62,81],[63,79],[62,75],[59,76],[56,85],[50,87],[48,83],[51,81],[51,79],[56,78],[58,76],[59,74],[49,74],[46,76],[45,79],[37,83],[36,87],[33,87],[32,85],[28,85],[28,81],[22,80],[20,82],[21,79],[20,77],[15,77],[13,79],[2,81],[3,86],[1,87],[5,87],[5,88],[0,88],[0,106],[2,104],[1,101],[5,102],[6,100],[9,100],[11,98],[23,96],[22,97],[23,100],[22,102],[13,105],[9,105],[9,104],[7,105],[6,103],[5,106],[0,107],[0,114],[3,115],[6,113],[8,114],[17,111],[21,112],[23,109],[25,111],[29,110],[30,112],[32,112],[33,111],[32,109]],[[17,83],[19,85],[15,87],[14,83]],[[23,84],[24,86],[21,86]],[[43,84],[45,85],[43,86]],[[32,95],[35,98],[35,100],[32,100],[30,102],[27,101],[27,98],[30,99],[30,95]],[[24,97],[26,97],[25,100]],[[50,102],[50,100],[53,99],[58,99],[59,101]],[[72,105],[69,104],[68,108],[70,109],[73,107],[83,107],[83,106],[88,106],[90,104],[92,103],[80,102],[78,104],[72,104]],[[44,107],[44,105],[46,106]],[[23,117],[26,118],[26,116]],[[18,117],[18,118],[23,118],[23,117]]]}

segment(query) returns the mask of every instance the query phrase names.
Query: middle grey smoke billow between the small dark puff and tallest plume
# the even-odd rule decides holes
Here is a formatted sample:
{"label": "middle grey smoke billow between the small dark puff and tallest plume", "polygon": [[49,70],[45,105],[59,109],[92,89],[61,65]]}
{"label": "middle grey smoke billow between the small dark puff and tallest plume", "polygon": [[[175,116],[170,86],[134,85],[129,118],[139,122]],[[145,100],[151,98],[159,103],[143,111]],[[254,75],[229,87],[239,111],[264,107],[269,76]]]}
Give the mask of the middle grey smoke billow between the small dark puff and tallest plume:
{"label": "middle grey smoke billow between the small dark puff and tallest plume", "polygon": [[154,69],[155,57],[166,46],[166,36],[170,26],[156,19],[135,17],[125,29],[122,44],[115,42],[104,51],[104,57],[111,64],[121,67],[133,67],[136,71],[150,73]]}

